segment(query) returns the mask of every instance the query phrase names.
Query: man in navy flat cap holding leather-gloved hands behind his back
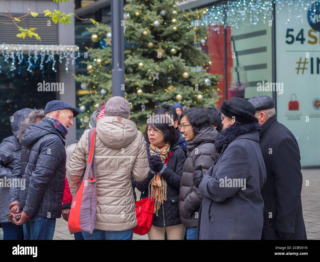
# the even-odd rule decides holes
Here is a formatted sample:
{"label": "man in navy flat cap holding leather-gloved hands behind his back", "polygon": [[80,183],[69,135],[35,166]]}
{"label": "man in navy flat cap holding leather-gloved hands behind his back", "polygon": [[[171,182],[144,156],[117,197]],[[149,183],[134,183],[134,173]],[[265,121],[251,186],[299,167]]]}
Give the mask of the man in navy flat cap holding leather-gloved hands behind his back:
{"label": "man in navy flat cap holding leather-gloved hands behind his back", "polygon": [[[19,189],[21,213],[13,216],[13,222],[23,225],[25,240],[53,239],[56,218],[61,217],[66,179],[63,139],[78,114],[79,110],[66,102],[50,101],[44,108],[45,117],[30,124],[23,133],[20,161],[14,172],[25,179],[26,188]],[[15,192],[10,190],[11,194]]]}

